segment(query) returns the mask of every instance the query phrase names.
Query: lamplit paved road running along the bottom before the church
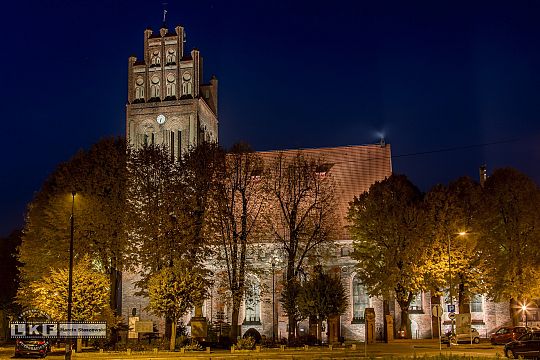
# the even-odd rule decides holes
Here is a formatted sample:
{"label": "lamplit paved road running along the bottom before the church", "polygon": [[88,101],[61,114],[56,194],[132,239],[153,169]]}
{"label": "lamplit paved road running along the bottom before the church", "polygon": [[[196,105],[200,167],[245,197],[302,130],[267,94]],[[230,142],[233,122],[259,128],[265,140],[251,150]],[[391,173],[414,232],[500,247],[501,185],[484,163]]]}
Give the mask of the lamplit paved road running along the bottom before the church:
{"label": "lamplit paved road running along the bottom before the church", "polygon": [[[0,359],[12,359],[13,347],[0,347]],[[439,350],[439,344],[434,340],[399,340],[391,344],[373,344],[367,346],[367,356],[372,358],[381,357],[409,357],[413,355],[417,356],[435,356],[435,355],[465,355],[475,357],[496,357],[503,356],[502,346],[493,346],[489,343],[480,343],[478,345],[455,345],[451,348],[447,348],[443,345],[442,350]],[[186,353],[181,354],[159,352],[154,354],[152,352],[146,353],[134,353],[128,356],[123,353],[91,353],[83,352],[76,354],[74,359],[80,360],[113,360],[113,359],[137,359],[137,360],[168,360],[172,358],[182,359],[224,359],[230,360],[234,358],[243,359],[358,359],[364,357],[364,345],[357,345],[356,350],[352,350],[350,346],[347,349],[336,349],[330,351],[328,348],[310,347],[307,351],[304,349],[287,349],[284,352],[278,349],[263,349],[262,352],[249,352],[249,353],[234,353],[231,354],[228,351],[218,350],[212,351],[210,354],[206,353]],[[60,360],[64,359],[62,349],[53,349],[47,359]]]}

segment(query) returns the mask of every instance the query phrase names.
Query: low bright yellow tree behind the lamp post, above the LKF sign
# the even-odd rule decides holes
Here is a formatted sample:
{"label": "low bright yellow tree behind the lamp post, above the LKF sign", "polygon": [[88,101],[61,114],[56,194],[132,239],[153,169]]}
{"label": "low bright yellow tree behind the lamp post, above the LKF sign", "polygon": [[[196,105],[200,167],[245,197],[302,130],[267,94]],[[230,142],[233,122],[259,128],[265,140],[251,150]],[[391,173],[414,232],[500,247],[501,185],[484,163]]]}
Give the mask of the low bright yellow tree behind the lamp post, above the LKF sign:
{"label": "low bright yellow tree behind the lamp post, above the LKF sign", "polygon": [[[29,284],[24,305],[41,310],[53,320],[67,319],[67,268],[52,269],[50,274]],[[109,308],[109,279],[92,266],[88,258],[73,267],[74,321],[111,320]]]}

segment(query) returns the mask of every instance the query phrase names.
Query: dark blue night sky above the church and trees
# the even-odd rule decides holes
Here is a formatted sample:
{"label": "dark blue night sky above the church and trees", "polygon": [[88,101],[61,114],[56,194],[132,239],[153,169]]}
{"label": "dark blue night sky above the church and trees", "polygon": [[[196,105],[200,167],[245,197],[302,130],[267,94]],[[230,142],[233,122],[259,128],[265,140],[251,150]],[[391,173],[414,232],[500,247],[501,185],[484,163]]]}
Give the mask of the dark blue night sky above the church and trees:
{"label": "dark blue night sky above the church and trees", "polygon": [[[219,79],[220,141],[376,142],[423,190],[514,166],[540,182],[540,2],[168,0]],[[12,1],[0,57],[0,235],[47,175],[124,133],[127,59],[160,1]]]}

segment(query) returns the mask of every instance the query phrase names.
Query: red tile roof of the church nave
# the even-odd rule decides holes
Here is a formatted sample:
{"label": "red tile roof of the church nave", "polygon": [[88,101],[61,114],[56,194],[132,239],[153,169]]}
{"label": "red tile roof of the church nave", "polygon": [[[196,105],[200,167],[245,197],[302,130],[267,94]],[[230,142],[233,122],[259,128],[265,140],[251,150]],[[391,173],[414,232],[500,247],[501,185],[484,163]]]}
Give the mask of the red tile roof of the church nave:
{"label": "red tile roof of the church nave", "polygon": [[383,180],[392,174],[390,145],[262,151],[258,154],[265,161],[269,161],[280,152],[286,157],[292,157],[299,151],[304,156],[321,159],[324,163],[332,164],[328,174],[334,180],[337,216],[341,222],[339,224],[340,231],[337,234],[338,239],[335,240],[350,240],[349,232],[345,228],[349,202],[353,200],[354,196],[368,191],[374,182]]}

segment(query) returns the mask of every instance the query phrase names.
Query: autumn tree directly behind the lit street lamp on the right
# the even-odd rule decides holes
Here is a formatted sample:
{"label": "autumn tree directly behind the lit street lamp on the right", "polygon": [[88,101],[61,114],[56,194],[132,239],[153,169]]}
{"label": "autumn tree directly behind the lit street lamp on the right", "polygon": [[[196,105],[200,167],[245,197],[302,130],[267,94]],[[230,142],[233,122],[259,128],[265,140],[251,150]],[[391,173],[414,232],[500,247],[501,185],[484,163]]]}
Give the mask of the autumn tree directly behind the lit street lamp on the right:
{"label": "autumn tree directly behind the lit street lamp on the right", "polygon": [[449,294],[458,300],[462,314],[469,312],[471,296],[485,290],[481,250],[477,246],[481,192],[478,183],[461,177],[448,186],[436,185],[425,196],[431,243],[426,247],[431,258],[426,279],[435,295],[452,284]]}

